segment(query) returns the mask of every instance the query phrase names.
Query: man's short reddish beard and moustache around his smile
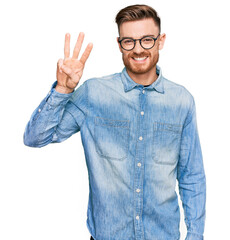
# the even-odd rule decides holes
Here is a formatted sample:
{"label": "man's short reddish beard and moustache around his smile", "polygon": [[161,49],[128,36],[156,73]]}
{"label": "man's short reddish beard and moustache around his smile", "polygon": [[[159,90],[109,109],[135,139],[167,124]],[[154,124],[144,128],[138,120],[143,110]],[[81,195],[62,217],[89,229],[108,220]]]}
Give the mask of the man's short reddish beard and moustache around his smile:
{"label": "man's short reddish beard and moustache around his smile", "polygon": [[[132,58],[148,57],[146,63],[135,63]],[[133,74],[145,74],[156,67],[159,60],[159,53],[152,57],[151,53],[143,52],[141,54],[130,53],[128,55],[122,54],[122,59],[125,67]]]}

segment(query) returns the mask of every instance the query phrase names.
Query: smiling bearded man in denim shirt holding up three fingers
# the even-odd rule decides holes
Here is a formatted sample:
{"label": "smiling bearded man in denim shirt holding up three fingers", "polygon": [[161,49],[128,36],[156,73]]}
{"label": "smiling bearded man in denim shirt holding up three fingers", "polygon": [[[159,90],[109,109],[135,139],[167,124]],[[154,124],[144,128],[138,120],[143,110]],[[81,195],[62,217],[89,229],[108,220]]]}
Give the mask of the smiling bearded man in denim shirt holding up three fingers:
{"label": "smiling bearded man in denim shirt holding up three fingers", "polygon": [[43,147],[81,131],[89,174],[87,227],[95,240],[177,240],[183,203],[187,240],[203,239],[206,180],[193,96],[157,66],[165,34],[146,5],[116,16],[125,68],[85,81],[92,50],[84,35],[70,57],[70,35],[57,82],[32,114],[24,143]]}

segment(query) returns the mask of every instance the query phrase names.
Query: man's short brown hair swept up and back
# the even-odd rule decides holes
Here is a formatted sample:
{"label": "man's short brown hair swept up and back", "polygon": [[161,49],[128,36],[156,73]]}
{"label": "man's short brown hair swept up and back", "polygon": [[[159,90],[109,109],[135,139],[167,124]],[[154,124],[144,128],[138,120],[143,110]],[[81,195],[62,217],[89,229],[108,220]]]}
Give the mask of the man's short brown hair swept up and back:
{"label": "man's short brown hair swept up and back", "polygon": [[158,26],[159,31],[161,31],[161,19],[155,9],[148,5],[130,5],[121,9],[115,18],[118,26],[118,31],[120,30],[120,25],[124,22],[137,21],[146,18],[152,18],[155,24]]}

